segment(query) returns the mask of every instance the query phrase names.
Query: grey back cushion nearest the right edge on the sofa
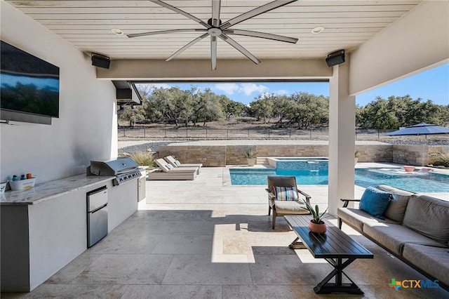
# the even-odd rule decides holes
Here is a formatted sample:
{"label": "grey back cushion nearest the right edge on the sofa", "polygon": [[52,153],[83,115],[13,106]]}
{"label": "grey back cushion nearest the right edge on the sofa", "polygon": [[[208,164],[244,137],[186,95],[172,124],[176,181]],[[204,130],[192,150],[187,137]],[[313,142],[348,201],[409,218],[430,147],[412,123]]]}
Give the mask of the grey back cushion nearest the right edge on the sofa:
{"label": "grey back cushion nearest the right edge on the sofa", "polygon": [[408,201],[403,225],[444,245],[449,241],[449,201],[413,195]]}

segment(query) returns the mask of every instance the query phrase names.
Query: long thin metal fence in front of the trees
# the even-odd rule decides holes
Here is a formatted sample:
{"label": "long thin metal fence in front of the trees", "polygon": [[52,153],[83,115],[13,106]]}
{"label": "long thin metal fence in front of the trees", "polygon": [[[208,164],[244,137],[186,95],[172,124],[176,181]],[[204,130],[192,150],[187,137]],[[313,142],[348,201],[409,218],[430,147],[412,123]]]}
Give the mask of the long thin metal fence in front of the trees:
{"label": "long thin metal fence in front of the trees", "polygon": [[[386,138],[394,130],[356,129],[356,139],[375,140]],[[328,140],[328,128],[311,129],[215,129],[215,128],[119,128],[119,138],[192,139],[192,140],[241,140],[241,139],[294,139]]]}

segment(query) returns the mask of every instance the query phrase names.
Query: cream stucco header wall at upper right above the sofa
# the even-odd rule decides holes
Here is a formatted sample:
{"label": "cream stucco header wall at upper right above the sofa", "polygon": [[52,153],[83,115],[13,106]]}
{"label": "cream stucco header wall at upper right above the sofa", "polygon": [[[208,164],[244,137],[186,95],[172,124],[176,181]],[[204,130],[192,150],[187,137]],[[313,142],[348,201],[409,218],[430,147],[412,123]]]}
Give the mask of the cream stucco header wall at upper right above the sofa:
{"label": "cream stucco header wall at upper right above the sofa", "polygon": [[448,62],[449,1],[423,1],[351,53],[349,94]]}

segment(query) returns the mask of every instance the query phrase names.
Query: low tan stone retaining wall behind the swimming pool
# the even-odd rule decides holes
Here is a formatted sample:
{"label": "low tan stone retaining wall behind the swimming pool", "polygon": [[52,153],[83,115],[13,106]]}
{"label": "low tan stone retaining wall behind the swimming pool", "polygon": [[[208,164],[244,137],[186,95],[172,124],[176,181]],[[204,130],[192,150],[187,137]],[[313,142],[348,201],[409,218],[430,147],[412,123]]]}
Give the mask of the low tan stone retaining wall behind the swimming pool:
{"label": "low tan stone retaining wall behind the swimming pool", "polygon": [[[182,163],[202,163],[206,167],[245,165],[246,150],[255,148],[259,157],[328,157],[328,145],[166,145],[159,157],[176,156]],[[429,154],[449,152],[449,146],[428,145],[356,145],[358,162],[391,162],[425,166]]]}

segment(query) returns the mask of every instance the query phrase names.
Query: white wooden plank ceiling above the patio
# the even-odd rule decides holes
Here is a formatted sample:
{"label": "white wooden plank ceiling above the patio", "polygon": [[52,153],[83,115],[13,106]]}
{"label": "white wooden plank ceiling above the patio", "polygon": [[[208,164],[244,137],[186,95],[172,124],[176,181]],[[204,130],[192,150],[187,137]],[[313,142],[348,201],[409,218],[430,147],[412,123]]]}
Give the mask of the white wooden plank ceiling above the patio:
{"label": "white wooden plank ceiling above the patio", "polygon": [[[150,1],[8,1],[85,53],[101,53],[116,59],[166,59],[196,37],[199,32],[159,34],[128,38],[126,34],[167,29],[200,28],[183,15]],[[211,0],[174,1],[180,8],[205,22],[211,17]],[[265,0],[222,0],[220,19],[225,22],[269,3]],[[347,52],[361,46],[375,34],[420,4],[415,0],[300,0],[257,15],[232,29],[267,32],[299,39],[297,44],[250,36],[232,38],[259,59],[323,58],[334,51]],[[315,27],[324,27],[312,34]],[[121,29],[116,35],[111,29]],[[206,37],[175,59],[210,59],[210,38]],[[244,56],[218,39],[217,58],[240,59]]]}

